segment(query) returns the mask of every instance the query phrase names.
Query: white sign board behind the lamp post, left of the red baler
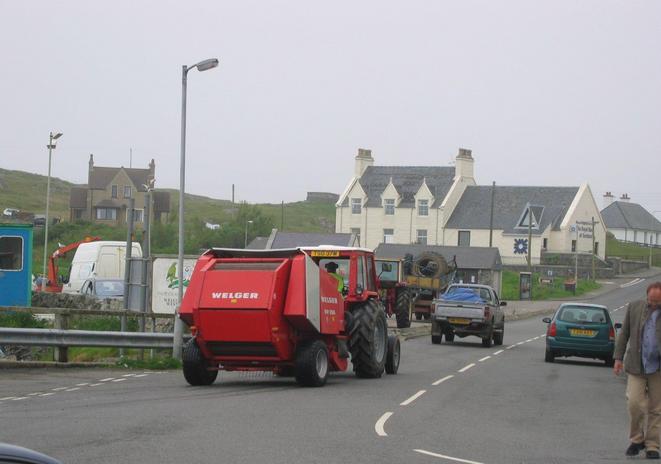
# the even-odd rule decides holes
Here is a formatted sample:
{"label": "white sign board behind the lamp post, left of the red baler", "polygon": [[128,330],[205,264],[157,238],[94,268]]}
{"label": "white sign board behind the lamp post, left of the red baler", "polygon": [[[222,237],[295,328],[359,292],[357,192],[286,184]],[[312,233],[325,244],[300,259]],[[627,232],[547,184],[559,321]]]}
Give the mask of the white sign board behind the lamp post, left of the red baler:
{"label": "white sign board behind the lamp post, left of the red baler", "polygon": [[[193,273],[196,259],[184,259],[184,293]],[[155,258],[152,267],[151,309],[155,313],[172,313],[179,296],[177,258]]]}

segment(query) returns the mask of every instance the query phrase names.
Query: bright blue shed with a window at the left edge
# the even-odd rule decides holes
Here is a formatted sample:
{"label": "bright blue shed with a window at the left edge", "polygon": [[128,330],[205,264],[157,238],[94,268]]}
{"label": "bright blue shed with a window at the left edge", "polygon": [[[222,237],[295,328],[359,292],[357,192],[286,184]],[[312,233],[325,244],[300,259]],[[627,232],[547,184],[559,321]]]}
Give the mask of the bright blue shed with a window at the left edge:
{"label": "bright blue shed with a window at the left edge", "polygon": [[32,224],[0,224],[0,306],[32,304]]}

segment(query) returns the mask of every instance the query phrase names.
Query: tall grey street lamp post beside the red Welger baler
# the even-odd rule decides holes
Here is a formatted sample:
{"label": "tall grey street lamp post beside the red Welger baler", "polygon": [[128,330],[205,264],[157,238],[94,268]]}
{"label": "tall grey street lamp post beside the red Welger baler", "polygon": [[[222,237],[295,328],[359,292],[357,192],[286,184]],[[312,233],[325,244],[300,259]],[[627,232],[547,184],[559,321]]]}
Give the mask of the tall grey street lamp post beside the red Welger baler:
{"label": "tall grey street lamp post beside the red Welger baler", "polygon": [[181,69],[181,162],[179,167],[179,251],[177,255],[177,279],[179,287],[177,292],[177,314],[174,318],[174,334],[172,343],[172,357],[181,359],[182,336],[184,333],[183,321],[179,319],[179,307],[184,297],[184,189],[186,184],[186,87],[188,71],[197,68],[198,71],[207,71],[218,66],[218,59],[210,58],[200,61],[192,66],[182,66]]}

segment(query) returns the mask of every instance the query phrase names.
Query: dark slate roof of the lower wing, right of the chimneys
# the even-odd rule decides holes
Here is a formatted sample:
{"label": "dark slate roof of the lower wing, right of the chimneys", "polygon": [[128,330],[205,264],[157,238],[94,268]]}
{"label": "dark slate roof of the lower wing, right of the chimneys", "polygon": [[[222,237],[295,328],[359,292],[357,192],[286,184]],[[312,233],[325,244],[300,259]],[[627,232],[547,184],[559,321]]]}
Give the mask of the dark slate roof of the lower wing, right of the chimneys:
{"label": "dark slate roof of the lower wing, right of the chimneys", "polygon": [[[549,226],[558,230],[577,193],[578,187],[496,186],[493,228],[505,233],[527,234],[527,226],[523,229],[516,226],[530,203],[533,207],[544,207],[541,217],[537,217],[540,227],[532,229],[533,235],[540,235]],[[447,228],[489,229],[490,212],[491,186],[469,186],[452,213]]]}

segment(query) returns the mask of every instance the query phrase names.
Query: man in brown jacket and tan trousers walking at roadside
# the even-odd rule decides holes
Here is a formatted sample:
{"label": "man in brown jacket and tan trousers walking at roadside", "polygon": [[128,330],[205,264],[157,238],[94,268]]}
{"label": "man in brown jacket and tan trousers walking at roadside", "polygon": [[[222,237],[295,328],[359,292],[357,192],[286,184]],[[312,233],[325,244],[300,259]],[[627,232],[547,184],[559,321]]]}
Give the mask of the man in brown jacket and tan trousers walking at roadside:
{"label": "man in brown jacket and tan trousers walking at roadside", "polygon": [[[643,449],[659,459],[661,433],[661,282],[647,287],[647,300],[629,304],[615,344],[615,375],[628,374],[629,447],[627,456]],[[628,349],[627,349],[628,344]],[[625,356],[626,350],[626,356]],[[624,362],[623,362],[624,360]],[[647,421],[645,419],[647,418]]]}

